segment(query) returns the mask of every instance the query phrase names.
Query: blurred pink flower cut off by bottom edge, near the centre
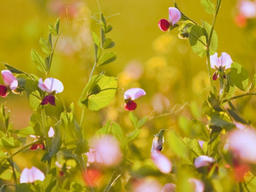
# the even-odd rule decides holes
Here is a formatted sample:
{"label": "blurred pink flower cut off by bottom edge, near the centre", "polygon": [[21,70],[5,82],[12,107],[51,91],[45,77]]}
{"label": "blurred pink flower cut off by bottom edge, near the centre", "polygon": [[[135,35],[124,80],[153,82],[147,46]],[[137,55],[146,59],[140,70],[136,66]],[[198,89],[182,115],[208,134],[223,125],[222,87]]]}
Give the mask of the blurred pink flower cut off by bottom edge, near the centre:
{"label": "blurred pink flower cut off by bottom edge, near the centre", "polygon": [[133,192],[161,192],[161,188],[156,180],[147,179],[136,183]]}

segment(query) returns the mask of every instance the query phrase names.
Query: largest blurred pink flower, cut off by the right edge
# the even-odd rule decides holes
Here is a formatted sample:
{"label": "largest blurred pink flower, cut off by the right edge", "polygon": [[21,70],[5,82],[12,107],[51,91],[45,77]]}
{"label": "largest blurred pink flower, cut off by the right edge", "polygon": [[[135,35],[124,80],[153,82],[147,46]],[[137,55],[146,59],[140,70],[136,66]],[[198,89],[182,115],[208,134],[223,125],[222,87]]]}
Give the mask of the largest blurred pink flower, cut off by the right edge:
{"label": "largest blurred pink flower, cut off by the right edge", "polygon": [[246,163],[256,163],[256,133],[253,129],[235,129],[228,134],[228,150],[234,158]]}

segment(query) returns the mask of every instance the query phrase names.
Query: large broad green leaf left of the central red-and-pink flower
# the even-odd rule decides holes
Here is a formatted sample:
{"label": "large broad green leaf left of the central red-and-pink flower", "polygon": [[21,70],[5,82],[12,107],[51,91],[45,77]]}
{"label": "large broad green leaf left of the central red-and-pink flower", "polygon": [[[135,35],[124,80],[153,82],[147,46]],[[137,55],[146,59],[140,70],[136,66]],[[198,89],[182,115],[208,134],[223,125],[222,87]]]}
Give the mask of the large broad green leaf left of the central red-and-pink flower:
{"label": "large broad green leaf left of the central red-and-pink flower", "polygon": [[92,111],[98,111],[111,102],[117,88],[116,77],[93,76],[86,84],[79,103]]}

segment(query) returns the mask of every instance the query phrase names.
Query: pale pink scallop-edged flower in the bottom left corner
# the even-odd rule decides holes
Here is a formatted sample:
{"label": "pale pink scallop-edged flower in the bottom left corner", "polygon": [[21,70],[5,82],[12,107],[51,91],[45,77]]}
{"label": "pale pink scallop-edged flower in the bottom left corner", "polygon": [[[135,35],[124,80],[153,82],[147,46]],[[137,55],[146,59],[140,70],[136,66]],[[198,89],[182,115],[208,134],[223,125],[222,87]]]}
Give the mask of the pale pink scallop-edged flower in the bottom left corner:
{"label": "pale pink scallop-edged flower in the bottom left corner", "polygon": [[24,168],[24,170],[22,170],[20,175],[20,183],[22,182],[33,183],[36,180],[44,180],[44,179],[45,179],[44,173],[38,170],[38,168],[36,168],[35,166],[32,166],[30,169]]}

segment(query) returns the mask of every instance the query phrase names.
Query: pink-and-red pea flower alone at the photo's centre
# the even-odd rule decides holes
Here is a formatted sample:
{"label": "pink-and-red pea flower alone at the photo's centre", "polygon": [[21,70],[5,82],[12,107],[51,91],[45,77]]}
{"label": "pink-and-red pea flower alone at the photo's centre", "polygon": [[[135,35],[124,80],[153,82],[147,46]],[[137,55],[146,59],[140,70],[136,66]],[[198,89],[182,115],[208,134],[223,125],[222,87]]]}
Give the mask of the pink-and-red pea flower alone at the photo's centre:
{"label": "pink-and-red pea flower alone at the photo's centre", "polygon": [[137,108],[136,102],[133,100],[146,95],[146,92],[141,88],[131,88],[124,93],[124,108],[127,111],[134,111]]}

